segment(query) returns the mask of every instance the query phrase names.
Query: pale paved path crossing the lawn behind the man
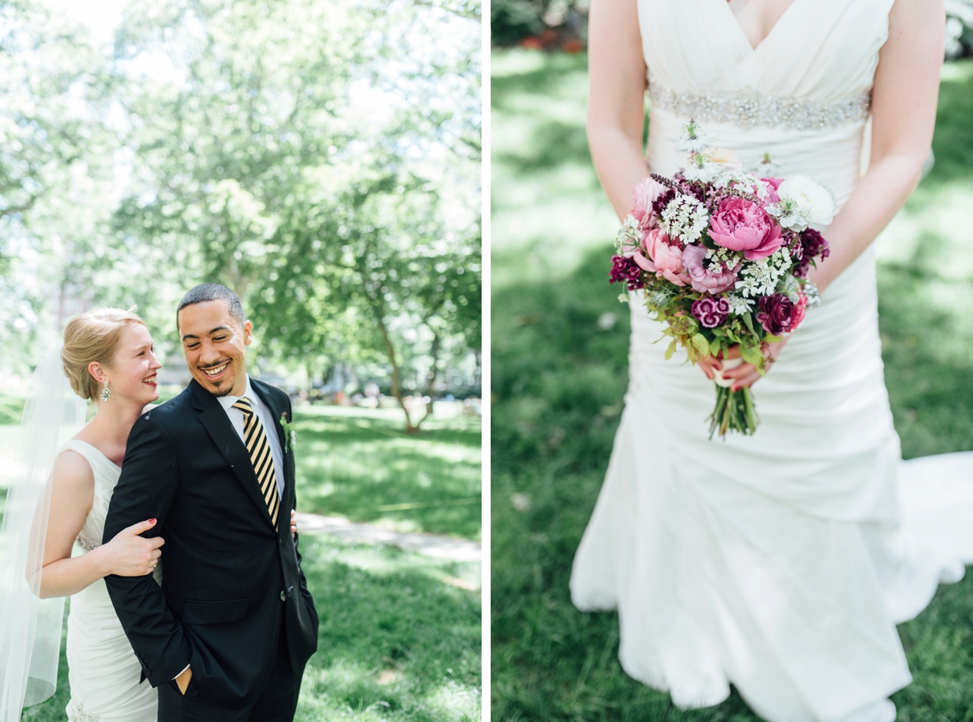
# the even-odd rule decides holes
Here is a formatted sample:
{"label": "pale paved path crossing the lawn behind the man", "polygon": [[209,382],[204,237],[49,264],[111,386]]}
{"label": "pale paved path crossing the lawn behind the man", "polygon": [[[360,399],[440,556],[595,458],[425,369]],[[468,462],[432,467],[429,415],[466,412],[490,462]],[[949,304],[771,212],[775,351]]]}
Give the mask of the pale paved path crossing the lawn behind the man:
{"label": "pale paved path crossing the lawn behind the man", "polygon": [[480,542],[457,539],[438,534],[407,534],[375,526],[370,523],[354,523],[340,517],[322,517],[319,514],[298,513],[298,531],[325,533],[366,544],[389,544],[427,557],[452,561],[482,561]]}

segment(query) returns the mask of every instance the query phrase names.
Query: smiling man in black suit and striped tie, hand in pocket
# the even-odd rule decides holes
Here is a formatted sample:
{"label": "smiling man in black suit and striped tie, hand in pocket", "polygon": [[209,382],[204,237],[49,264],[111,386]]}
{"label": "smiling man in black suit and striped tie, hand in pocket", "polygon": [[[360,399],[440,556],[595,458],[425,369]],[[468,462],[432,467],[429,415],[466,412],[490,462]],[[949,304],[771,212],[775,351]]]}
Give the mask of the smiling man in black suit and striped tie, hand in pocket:
{"label": "smiling man in black suit and striped tie, hand in pocket", "polygon": [[290,401],[247,376],[251,325],[229,288],[194,288],[176,325],[193,380],[132,427],[104,531],[158,519],[147,535],[165,539],[162,587],[105,583],[160,722],[290,722],[317,647],[289,526]]}

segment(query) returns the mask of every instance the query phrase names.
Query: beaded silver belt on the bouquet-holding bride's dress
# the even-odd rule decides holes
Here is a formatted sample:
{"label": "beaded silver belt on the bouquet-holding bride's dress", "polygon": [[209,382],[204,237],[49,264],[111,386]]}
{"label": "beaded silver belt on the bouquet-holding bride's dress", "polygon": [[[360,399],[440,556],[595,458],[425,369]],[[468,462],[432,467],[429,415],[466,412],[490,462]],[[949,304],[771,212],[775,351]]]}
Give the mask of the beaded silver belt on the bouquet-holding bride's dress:
{"label": "beaded silver belt on the bouquet-holding bride's dress", "polygon": [[737,91],[676,92],[658,81],[649,83],[649,97],[656,106],[696,121],[798,130],[864,121],[872,104],[872,96],[867,92],[830,103],[815,103],[764,95],[750,87]]}

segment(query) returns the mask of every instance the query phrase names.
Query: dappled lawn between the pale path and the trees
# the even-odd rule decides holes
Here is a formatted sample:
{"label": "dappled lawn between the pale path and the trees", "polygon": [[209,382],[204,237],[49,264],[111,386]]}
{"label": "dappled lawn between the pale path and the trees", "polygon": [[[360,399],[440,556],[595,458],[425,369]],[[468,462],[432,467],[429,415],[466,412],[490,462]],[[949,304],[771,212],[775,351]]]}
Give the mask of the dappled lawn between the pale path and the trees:
{"label": "dappled lawn between the pale path and the trees", "polygon": [[295,419],[300,511],[480,537],[479,418],[436,420],[417,436],[367,412],[300,410]]}

